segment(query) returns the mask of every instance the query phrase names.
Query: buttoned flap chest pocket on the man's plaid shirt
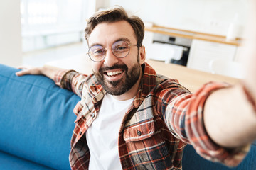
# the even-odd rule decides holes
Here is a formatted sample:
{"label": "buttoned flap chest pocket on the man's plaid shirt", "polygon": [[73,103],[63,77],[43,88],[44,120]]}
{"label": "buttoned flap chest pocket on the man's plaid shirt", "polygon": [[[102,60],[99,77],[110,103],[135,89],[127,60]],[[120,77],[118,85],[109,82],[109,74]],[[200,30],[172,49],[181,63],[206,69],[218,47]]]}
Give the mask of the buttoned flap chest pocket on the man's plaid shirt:
{"label": "buttoned flap chest pocket on the man's plaid shirt", "polygon": [[166,162],[169,152],[162,138],[160,130],[155,128],[153,118],[124,129],[124,141],[132,164],[145,167],[156,162]]}

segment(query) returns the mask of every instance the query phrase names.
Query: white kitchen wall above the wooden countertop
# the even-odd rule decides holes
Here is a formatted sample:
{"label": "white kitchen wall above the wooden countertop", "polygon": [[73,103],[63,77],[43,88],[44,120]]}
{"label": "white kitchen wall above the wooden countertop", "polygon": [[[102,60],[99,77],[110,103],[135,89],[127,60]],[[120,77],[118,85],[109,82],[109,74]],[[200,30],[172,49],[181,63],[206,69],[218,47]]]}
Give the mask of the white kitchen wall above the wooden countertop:
{"label": "white kitchen wall above the wooden countertop", "polygon": [[[121,5],[144,21],[161,26],[226,35],[238,13],[238,25],[245,21],[247,0],[107,0],[102,7]],[[108,4],[108,6],[107,6]],[[242,29],[238,35],[241,35]]]}

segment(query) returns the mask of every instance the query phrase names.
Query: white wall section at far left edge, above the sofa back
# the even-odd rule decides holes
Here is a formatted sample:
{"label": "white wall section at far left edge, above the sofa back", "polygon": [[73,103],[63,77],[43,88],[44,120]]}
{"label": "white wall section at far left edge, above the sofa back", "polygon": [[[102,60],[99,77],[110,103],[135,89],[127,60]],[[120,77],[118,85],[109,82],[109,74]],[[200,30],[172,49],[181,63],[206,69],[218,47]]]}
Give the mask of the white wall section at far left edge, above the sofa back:
{"label": "white wall section at far left edge, above the sofa back", "polygon": [[22,64],[20,1],[0,1],[0,63]]}

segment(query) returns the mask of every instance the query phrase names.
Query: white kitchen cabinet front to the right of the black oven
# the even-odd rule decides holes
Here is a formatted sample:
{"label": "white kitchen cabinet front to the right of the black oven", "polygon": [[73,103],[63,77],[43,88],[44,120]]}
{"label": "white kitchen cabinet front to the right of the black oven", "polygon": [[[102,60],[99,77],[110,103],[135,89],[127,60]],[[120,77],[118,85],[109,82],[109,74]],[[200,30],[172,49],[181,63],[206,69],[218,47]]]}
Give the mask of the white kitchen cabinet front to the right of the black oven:
{"label": "white kitchen cabinet front to the right of the black oven", "polygon": [[210,61],[223,59],[233,61],[237,47],[235,45],[226,45],[218,42],[209,42],[204,40],[193,40],[189,52],[187,67],[210,72]]}

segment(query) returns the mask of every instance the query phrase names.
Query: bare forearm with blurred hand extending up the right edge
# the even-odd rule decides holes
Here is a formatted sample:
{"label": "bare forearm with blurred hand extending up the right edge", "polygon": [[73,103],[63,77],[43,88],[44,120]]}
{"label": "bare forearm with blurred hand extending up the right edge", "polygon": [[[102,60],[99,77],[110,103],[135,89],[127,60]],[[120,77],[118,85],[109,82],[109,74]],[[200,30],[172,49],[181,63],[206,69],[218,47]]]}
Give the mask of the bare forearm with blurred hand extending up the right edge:
{"label": "bare forearm with blurred hand extending up the right edge", "polygon": [[241,53],[247,61],[245,79],[237,86],[215,91],[204,107],[206,130],[223,147],[241,147],[256,139],[256,1],[250,3]]}

